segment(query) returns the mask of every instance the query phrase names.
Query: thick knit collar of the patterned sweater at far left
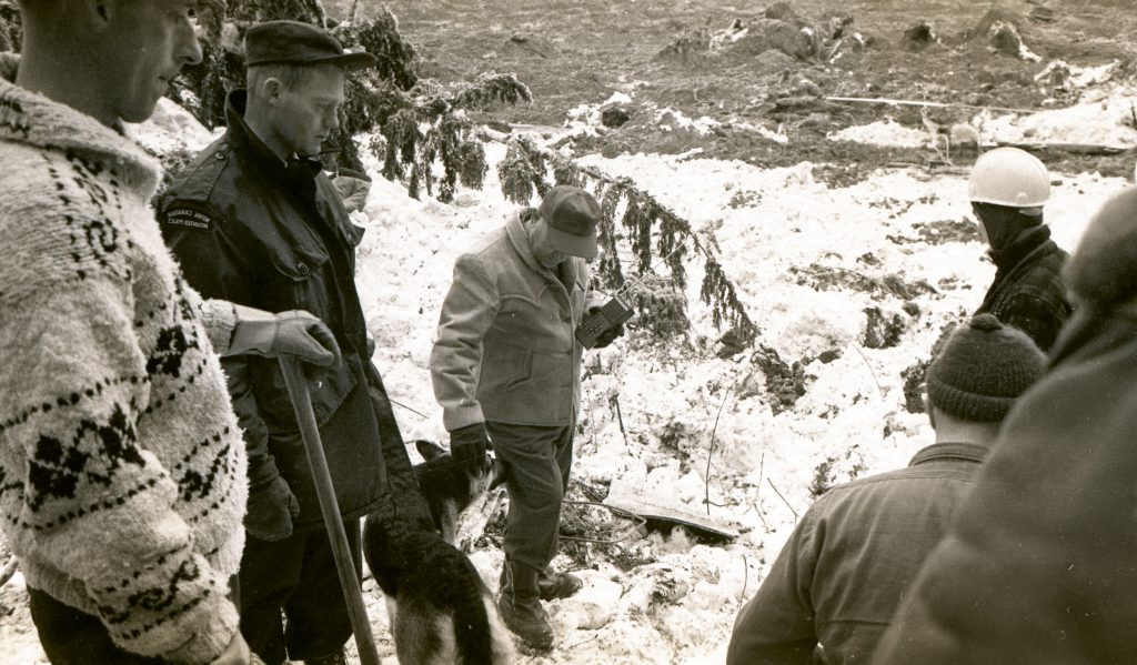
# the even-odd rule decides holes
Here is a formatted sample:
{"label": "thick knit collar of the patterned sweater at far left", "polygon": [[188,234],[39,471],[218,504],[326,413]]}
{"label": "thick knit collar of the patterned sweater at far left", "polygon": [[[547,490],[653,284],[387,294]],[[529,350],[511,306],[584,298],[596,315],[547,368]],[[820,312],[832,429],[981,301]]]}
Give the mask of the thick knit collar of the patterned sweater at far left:
{"label": "thick knit collar of the patterned sweater at far left", "polygon": [[0,141],[65,152],[106,168],[119,185],[149,200],[161,166],[134,141],[89,115],[0,78]]}

